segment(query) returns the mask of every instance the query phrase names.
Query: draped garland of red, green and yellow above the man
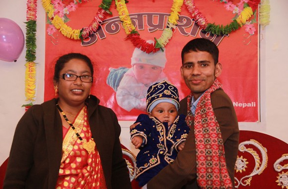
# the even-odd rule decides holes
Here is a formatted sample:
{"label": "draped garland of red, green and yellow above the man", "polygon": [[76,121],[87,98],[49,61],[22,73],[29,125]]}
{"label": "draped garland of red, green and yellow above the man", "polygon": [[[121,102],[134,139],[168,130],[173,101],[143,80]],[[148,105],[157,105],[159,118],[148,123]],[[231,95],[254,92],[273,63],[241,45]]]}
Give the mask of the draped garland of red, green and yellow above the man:
{"label": "draped garland of red, green and yellow above the man", "polygon": [[[221,0],[225,2],[224,0]],[[215,25],[208,23],[207,19],[201,14],[198,8],[195,6],[194,0],[184,0],[189,13],[192,18],[196,20],[196,23],[199,27],[207,32],[220,35],[220,34],[229,34],[230,32],[237,30],[239,27],[242,27],[247,20],[253,15],[253,12],[258,7],[260,0],[249,0],[248,3],[244,3],[244,8],[236,19],[233,19],[230,24],[226,26]]]}

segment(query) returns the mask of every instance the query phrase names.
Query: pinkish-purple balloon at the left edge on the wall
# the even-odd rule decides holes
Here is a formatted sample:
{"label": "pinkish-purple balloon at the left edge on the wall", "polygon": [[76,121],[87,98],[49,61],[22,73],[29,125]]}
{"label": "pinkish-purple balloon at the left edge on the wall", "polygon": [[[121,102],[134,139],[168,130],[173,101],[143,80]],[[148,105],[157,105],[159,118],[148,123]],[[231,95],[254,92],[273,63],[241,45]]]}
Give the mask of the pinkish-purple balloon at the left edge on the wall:
{"label": "pinkish-purple balloon at the left edge on the wall", "polygon": [[16,62],[24,48],[20,26],[8,18],[0,18],[0,60]]}

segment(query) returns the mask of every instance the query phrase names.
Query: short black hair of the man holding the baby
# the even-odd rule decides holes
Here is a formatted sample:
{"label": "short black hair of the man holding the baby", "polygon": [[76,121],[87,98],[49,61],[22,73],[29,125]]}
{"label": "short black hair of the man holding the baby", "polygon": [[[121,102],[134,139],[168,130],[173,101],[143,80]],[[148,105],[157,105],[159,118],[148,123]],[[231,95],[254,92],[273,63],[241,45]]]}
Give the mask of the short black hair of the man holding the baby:
{"label": "short black hair of the man holding the baby", "polygon": [[218,63],[218,57],[219,57],[219,50],[215,43],[210,41],[209,39],[205,38],[196,38],[189,41],[182,49],[181,52],[181,59],[182,59],[182,66],[183,66],[183,59],[184,54],[189,52],[199,52],[199,51],[206,51],[210,53],[214,59],[214,64],[216,65]]}

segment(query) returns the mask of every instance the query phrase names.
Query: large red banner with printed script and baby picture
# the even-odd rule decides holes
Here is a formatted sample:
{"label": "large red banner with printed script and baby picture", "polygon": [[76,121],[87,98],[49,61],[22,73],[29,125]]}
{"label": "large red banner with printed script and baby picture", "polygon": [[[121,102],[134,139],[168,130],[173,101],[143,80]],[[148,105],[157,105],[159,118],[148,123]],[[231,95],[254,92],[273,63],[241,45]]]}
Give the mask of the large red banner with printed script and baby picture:
{"label": "large red banner with printed script and baby picture", "polygon": [[[62,2],[69,4],[73,1],[63,0]],[[210,23],[226,25],[237,15],[220,1],[195,0],[194,2]],[[237,8],[240,0],[232,2]],[[172,3],[172,0],[141,0],[141,2],[129,0],[127,9],[142,39],[154,41],[154,38],[161,36]],[[74,11],[62,16],[67,21],[67,25],[73,29],[81,29],[91,23],[100,4],[100,0],[87,2],[82,0]],[[254,15],[255,23],[251,21],[251,24],[245,24],[227,35],[214,35],[203,31],[195,20],[191,19],[189,11],[183,4],[173,36],[165,46],[164,52],[158,51],[158,54],[153,55],[158,62],[153,63],[155,66],[150,65],[147,68],[152,70],[148,76],[148,73],[144,73],[147,72],[146,67],[138,64],[138,60],[139,57],[144,61],[148,60],[149,56],[135,49],[132,42],[126,39],[127,35],[118,16],[115,1],[112,2],[110,11],[112,15],[108,15],[101,23],[101,27],[83,42],[69,39],[50,24],[46,24],[45,101],[55,97],[53,73],[56,60],[66,53],[82,53],[94,63],[95,82],[91,94],[100,99],[101,105],[112,108],[119,120],[134,121],[140,113],[145,113],[145,107],[139,104],[145,103],[146,90],[144,89],[147,84],[142,84],[141,81],[167,79],[178,88],[180,99],[190,93],[180,74],[181,50],[194,38],[207,38],[219,48],[219,62],[223,66],[219,81],[232,99],[238,121],[260,121],[258,14]],[[138,69],[133,69],[135,65],[139,66]],[[157,68],[160,70],[155,71]],[[126,78],[124,82],[125,77],[128,76],[130,79]],[[133,86],[132,84],[137,81],[140,84]],[[121,85],[123,86],[120,87]],[[122,90],[119,90],[120,88]]]}

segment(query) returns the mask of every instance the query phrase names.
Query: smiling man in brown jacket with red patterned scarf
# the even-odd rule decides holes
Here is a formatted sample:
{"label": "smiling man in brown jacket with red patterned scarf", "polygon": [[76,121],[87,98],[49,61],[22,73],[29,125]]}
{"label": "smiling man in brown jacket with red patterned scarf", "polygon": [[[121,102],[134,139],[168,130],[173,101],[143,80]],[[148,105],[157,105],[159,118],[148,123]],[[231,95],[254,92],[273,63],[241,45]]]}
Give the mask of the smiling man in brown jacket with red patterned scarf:
{"label": "smiling man in brown jacket with red patterned scarf", "polygon": [[150,180],[147,189],[234,187],[239,128],[231,99],[217,80],[218,48],[208,39],[189,41],[181,52],[181,76],[191,94],[180,102],[191,131],[175,161]]}

